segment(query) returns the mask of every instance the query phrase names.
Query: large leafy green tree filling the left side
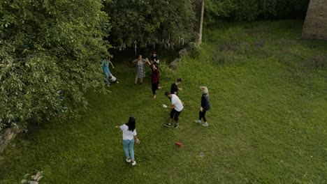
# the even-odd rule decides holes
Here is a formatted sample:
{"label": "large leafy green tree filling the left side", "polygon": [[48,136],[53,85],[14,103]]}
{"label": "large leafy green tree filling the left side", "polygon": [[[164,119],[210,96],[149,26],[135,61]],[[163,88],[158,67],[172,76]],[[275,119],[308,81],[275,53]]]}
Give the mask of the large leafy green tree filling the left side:
{"label": "large leafy green tree filling the left side", "polygon": [[0,125],[85,107],[108,54],[101,8],[100,0],[0,2]]}

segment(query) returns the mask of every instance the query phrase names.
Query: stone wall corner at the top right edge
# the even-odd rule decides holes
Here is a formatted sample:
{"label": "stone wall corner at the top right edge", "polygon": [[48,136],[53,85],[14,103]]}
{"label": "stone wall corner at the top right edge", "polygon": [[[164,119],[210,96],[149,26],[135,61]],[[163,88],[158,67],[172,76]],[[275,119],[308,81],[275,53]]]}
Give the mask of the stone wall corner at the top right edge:
{"label": "stone wall corner at the top right edge", "polygon": [[310,1],[302,37],[327,40],[327,0]]}

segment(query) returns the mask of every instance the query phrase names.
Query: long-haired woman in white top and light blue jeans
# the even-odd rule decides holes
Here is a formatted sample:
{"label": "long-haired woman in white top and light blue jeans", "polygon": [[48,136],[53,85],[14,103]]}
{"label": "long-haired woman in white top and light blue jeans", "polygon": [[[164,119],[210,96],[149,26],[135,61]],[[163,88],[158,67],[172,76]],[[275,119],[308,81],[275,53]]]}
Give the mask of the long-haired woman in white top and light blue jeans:
{"label": "long-haired woman in white top and light blue jeans", "polygon": [[131,116],[129,117],[129,123],[116,126],[116,128],[120,128],[123,132],[123,146],[126,154],[126,162],[132,162],[132,165],[136,165],[134,158],[134,139],[136,139],[137,144],[140,144],[140,140],[136,137],[137,133],[135,124],[135,118]]}

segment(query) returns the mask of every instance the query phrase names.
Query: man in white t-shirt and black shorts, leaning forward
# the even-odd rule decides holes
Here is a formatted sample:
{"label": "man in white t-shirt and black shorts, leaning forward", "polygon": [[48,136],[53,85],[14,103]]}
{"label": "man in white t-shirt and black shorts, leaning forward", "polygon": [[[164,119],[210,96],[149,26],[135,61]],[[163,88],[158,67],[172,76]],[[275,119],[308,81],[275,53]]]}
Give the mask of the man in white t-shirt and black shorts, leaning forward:
{"label": "man in white t-shirt and black shorts, leaning forward", "polygon": [[178,125],[180,125],[178,123],[178,121],[180,120],[178,116],[180,116],[180,112],[182,112],[182,109],[184,109],[184,103],[180,100],[180,98],[178,98],[177,95],[171,94],[169,91],[167,91],[165,95],[170,99],[171,106],[167,106],[167,105],[162,105],[162,106],[171,109],[171,112],[170,112],[169,123],[163,125],[165,125],[166,127],[171,127],[171,123],[173,122],[174,119],[176,121],[174,127],[178,128]]}

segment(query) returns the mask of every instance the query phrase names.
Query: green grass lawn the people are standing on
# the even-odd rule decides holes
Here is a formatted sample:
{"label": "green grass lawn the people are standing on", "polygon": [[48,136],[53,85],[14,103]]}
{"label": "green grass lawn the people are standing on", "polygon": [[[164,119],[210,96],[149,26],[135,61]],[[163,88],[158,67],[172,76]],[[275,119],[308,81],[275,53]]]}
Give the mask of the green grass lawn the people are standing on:
{"label": "green grass lawn the people are standing on", "polygon": [[[53,119],[19,135],[0,155],[0,183],[20,183],[36,171],[51,184],[326,183],[327,43],[301,39],[302,26],[294,20],[208,26],[201,49],[177,70],[161,65],[165,89],[156,100],[150,75],[133,86],[132,57],[116,56],[119,84],[111,93],[90,92],[80,118]],[[166,128],[163,93],[178,77],[185,107],[180,127]],[[208,128],[194,123],[202,85],[212,105]],[[129,116],[141,140],[136,167],[124,161],[115,129]]]}

